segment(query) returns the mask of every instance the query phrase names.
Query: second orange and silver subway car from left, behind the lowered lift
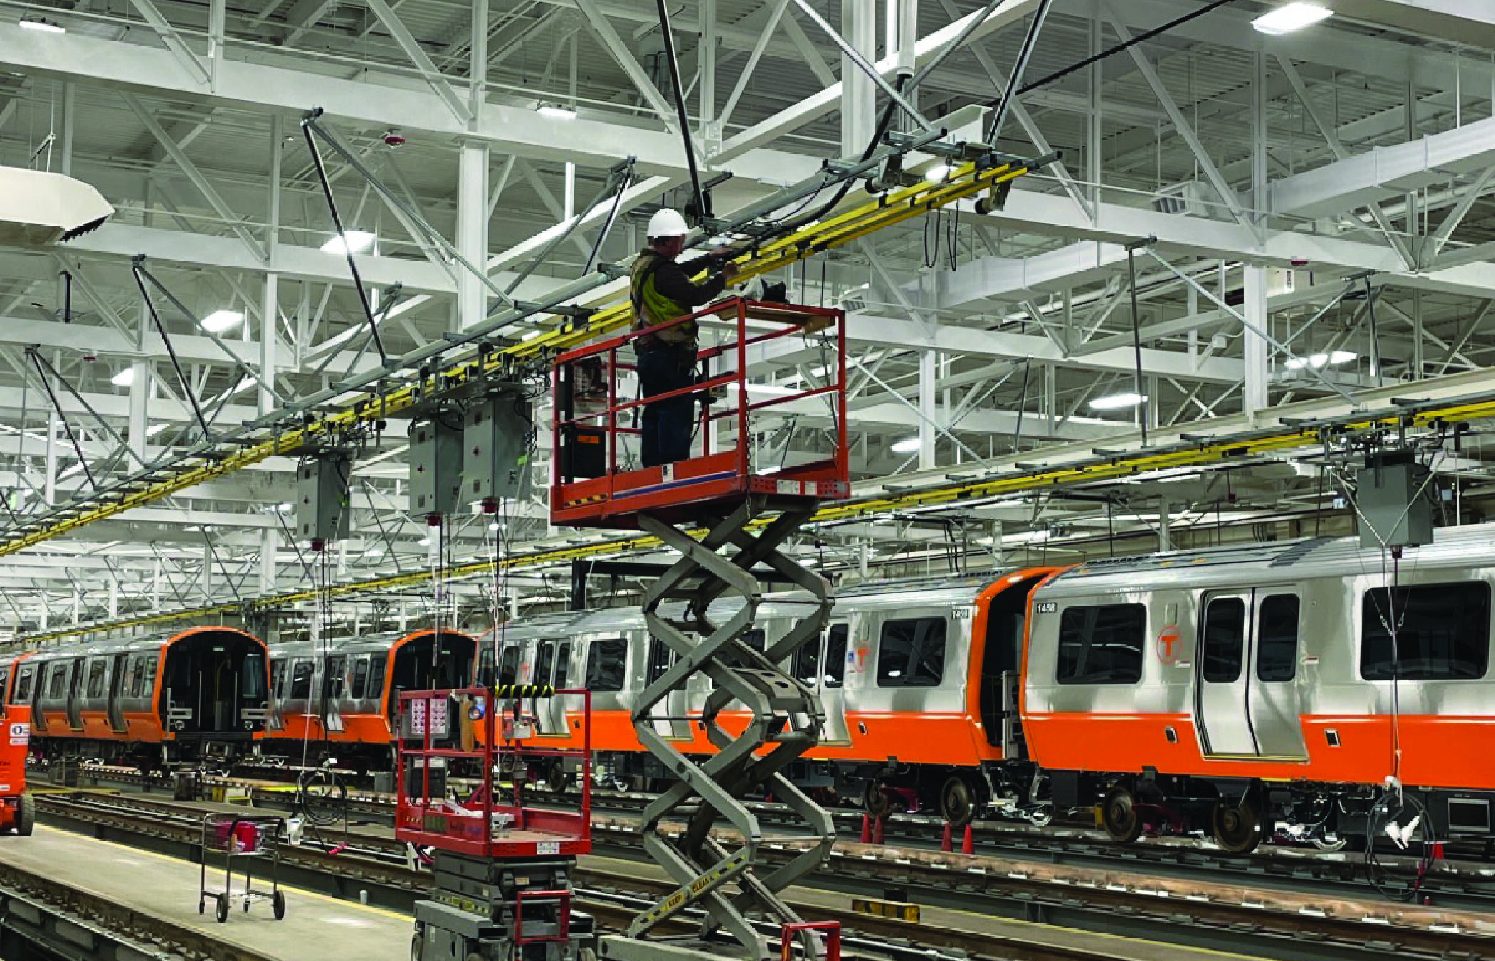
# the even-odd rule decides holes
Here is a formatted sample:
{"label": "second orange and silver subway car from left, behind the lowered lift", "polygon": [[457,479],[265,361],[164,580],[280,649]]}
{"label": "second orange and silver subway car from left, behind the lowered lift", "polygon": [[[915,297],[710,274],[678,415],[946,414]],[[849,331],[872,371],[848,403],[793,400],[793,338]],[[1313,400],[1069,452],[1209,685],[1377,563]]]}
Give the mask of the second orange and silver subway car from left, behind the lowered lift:
{"label": "second orange and silver subway car from left, behind the lowered lift", "polygon": [[290,641],[271,649],[265,750],[296,762],[390,767],[401,690],[466,687],[477,641],[457,631]]}

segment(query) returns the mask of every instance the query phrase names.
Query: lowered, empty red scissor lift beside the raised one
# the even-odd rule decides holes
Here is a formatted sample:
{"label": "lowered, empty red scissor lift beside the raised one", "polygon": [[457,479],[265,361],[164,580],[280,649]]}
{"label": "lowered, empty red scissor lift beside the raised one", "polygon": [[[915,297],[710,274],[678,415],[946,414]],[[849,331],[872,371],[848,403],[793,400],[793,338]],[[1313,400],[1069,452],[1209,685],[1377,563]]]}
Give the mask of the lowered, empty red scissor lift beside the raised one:
{"label": "lowered, empty red scissor lift beside the raised one", "polygon": [[[582,747],[538,743],[520,696],[573,698]],[[592,850],[591,732],[592,695],[582,689],[399,695],[395,837],[429,852],[434,876],[431,900],[416,903],[411,961],[574,960],[594,937],[591,918],[571,910],[576,858]],[[576,810],[526,806],[534,761],[576,767]]]}

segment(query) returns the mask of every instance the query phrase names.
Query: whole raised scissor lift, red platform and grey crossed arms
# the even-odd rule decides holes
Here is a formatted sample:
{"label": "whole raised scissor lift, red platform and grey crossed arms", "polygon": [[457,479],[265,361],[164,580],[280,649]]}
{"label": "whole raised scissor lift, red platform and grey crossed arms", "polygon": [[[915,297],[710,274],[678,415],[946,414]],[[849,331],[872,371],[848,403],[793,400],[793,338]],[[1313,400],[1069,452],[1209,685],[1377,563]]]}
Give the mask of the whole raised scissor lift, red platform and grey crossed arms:
{"label": "whole raised scissor lift, red platform and grey crossed arms", "polygon": [[[753,916],[777,925],[779,940],[798,942],[806,957],[836,957],[839,937],[824,927],[806,925],[779,897],[785,888],[824,864],[836,831],[830,815],[800,791],[785,768],[819,743],[825,725],[815,690],[780,665],[789,664],[806,643],[818,643],[831,614],[830,584],[821,575],[783,553],[785,543],[800,531],[822,499],[849,495],[846,459],[845,314],[836,309],[758,303],[730,299],[691,315],[710,330],[710,317],[725,321],[728,342],[700,351],[709,369],[691,389],[674,395],[710,398],[698,420],[695,456],[664,468],[626,469],[628,438],[638,430],[626,426],[644,399],[620,399],[619,375],[631,369],[632,341],[644,332],[610,338],[592,347],[568,351],[556,360],[556,484],[552,490],[555,523],[579,526],[637,528],[656,537],[680,554],[644,595],[644,620],[653,638],[674,653],[674,664],[644,687],[632,710],[638,741],[664,765],[671,783],[643,816],[643,844],[679,885],[661,901],[641,912],[626,937],[604,939],[604,957],[623,961],[656,961],[658,948],[721,957],[721,931],[740,946],[740,957],[753,961],[770,957],[770,937]],[[683,323],[679,318],[671,323]],[[665,327],[670,324],[661,324]],[[822,357],[822,378],[797,393],[750,399],[746,371],[761,345],[783,338],[806,338]],[[728,368],[712,372],[710,366]],[[599,366],[598,366],[599,365]],[[579,371],[591,371],[585,378]],[[602,384],[597,384],[601,371]],[[579,381],[592,386],[579,390]],[[605,392],[602,387],[605,386]],[[588,399],[592,401],[588,408]],[[658,398],[655,398],[658,399]],[[765,408],[812,405],[830,412],[830,451],[809,463],[753,463],[753,420]],[[797,407],[783,410],[794,411]],[[730,424],[731,444],[713,448],[718,424]],[[570,445],[577,438],[605,445],[601,465],[579,466]],[[704,537],[692,531],[704,529]],[[752,629],[762,601],[761,572],[803,589],[806,614],[782,638],[755,650],[743,635]],[[742,599],[727,620],[715,623],[713,601]],[[671,602],[685,602],[683,611]],[[667,607],[667,604],[670,607]],[[674,692],[688,689],[691,679],[706,674],[712,690],[698,714],[656,713]],[[743,722],[739,710],[746,708]],[[665,708],[668,710],[668,708]],[[665,737],[656,722],[685,722],[689,744]],[[704,731],[706,741],[695,738]],[[786,804],[807,832],[765,837],[745,797],[768,792]],[[683,822],[683,831],[667,828]],[[725,822],[736,838],[712,834]],[[788,862],[761,871],[765,843],[798,847]],[[659,939],[656,928],[689,909],[700,909],[701,927],[694,939]],[[643,939],[649,940],[643,940]],[[824,940],[822,940],[824,939]],[[777,955],[774,957],[788,957]]]}

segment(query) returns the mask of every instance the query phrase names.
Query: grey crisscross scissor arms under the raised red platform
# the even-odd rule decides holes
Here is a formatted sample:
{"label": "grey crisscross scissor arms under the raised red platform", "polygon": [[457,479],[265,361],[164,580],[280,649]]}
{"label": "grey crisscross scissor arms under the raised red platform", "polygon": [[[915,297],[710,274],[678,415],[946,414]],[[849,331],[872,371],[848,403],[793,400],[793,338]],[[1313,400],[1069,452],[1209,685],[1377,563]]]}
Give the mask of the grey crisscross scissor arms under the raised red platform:
{"label": "grey crisscross scissor arms under the raised red platform", "polygon": [[[677,779],[644,809],[643,843],[679,888],[632,921],[631,939],[641,939],[686,907],[700,906],[704,910],[703,937],[722,930],[737,940],[748,958],[764,958],[767,942],[748,915],[774,924],[798,921],[779,892],[830,856],[836,840],[830,815],[783,774],[792,761],[819,743],[825,725],[825,711],[815,692],[779,667],[803,644],[818,643],[830,622],[830,584],[779,550],[815,510],[813,502],[801,502],[753,535],[755,517],[765,511],[764,501],[755,496],[725,517],[712,519],[701,541],[658,519],[638,519],[644,532],[682,554],[644,595],[649,632],[674,652],[676,662],[644,689],[632,714],[640,743]],[[804,602],[810,608],[807,614],[762,652],[742,640],[762,601],[753,574],[758,565],[767,565],[810,595]],[[692,586],[694,581],[700,583]],[[724,595],[740,598],[742,607],[716,625],[707,608]],[[677,599],[685,599],[686,608],[683,616],[673,619],[673,611],[662,605]],[[656,716],[655,708],[667,702],[671,692],[685,690],[695,674],[706,674],[713,682],[701,714]],[[734,702],[745,705],[748,713],[740,734],[721,723],[722,710]],[[655,728],[659,720],[671,728],[700,722],[716,753],[704,759],[686,756]],[[771,791],[809,828],[807,834],[783,838],[804,847],[767,876],[759,876],[755,864],[759,847],[770,838],[740,800],[762,791]],[[686,821],[677,837],[661,829],[661,822],[671,815]],[[737,838],[731,841],[736,849],[712,837],[719,821],[736,829]],[[727,889],[731,882],[736,882],[736,895]]]}

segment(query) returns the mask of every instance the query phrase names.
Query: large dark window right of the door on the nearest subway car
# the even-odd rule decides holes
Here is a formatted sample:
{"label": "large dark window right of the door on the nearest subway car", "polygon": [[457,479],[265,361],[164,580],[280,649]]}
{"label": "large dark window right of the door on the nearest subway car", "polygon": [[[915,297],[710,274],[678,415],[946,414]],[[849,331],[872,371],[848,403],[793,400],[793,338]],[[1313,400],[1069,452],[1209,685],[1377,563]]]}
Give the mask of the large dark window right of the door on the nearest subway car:
{"label": "large dark window right of the door on the nearest subway car", "polygon": [[1489,649],[1491,587],[1485,581],[1419,584],[1395,593],[1375,587],[1360,599],[1365,680],[1476,680],[1485,677]]}

